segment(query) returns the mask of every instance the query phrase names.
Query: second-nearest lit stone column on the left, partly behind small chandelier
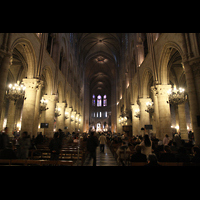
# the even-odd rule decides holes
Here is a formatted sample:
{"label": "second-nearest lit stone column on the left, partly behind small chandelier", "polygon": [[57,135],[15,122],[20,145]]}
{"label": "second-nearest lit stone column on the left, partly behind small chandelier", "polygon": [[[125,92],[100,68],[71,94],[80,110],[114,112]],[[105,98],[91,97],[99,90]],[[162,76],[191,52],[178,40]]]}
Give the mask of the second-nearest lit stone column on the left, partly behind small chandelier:
{"label": "second-nearest lit stone column on the left, partly behind small chandelier", "polygon": [[44,135],[46,135],[49,138],[53,137],[53,128],[54,128],[54,118],[55,118],[55,104],[57,101],[57,96],[56,95],[44,95],[44,99],[48,100],[47,107],[49,108],[48,110],[44,111],[46,112],[45,116],[45,123],[49,124],[48,128],[44,129]]}

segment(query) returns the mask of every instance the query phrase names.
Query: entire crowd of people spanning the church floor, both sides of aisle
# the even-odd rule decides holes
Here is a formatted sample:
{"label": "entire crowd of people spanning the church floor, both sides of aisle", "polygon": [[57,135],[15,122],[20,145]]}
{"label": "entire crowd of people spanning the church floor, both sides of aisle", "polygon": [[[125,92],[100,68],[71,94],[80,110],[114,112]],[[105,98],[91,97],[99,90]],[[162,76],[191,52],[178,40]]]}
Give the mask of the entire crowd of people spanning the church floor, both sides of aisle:
{"label": "entire crowd of people spanning the church floor, both sides of aisle", "polygon": [[[142,135],[128,137],[124,132],[120,133],[64,133],[59,129],[55,132],[54,138],[48,141],[49,138],[39,133],[35,138],[28,135],[27,132],[13,134],[14,143],[10,142],[8,137],[8,128],[0,133],[0,159],[28,159],[29,149],[36,148],[37,145],[48,143],[51,152],[51,159],[58,160],[59,152],[62,148],[62,141],[65,138],[67,143],[77,143],[80,140],[87,142],[87,150],[90,152],[90,157],[93,158],[94,166],[96,165],[96,147],[100,145],[100,151],[104,153],[104,146],[107,141],[110,145],[119,144],[116,151],[118,155],[120,151],[132,151],[135,153],[131,156],[131,162],[148,162],[148,165],[159,166],[159,162],[194,162],[200,163],[200,148],[193,145],[192,138],[187,142],[181,140],[179,134],[173,134],[170,138],[167,134],[162,140],[159,140],[154,135],[148,135],[144,132]],[[15,151],[14,148],[15,147]]]}

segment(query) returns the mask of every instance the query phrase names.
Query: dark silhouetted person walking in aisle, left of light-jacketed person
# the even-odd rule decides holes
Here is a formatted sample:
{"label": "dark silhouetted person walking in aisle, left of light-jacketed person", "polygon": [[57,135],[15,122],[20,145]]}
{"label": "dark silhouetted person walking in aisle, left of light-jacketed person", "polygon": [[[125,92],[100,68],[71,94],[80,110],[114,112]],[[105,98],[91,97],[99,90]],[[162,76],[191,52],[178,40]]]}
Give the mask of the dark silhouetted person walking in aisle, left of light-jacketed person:
{"label": "dark silhouetted person walking in aisle, left of light-jacketed person", "polygon": [[91,135],[87,140],[87,150],[90,152],[88,163],[90,162],[91,158],[93,158],[93,166],[96,166],[96,148],[98,145],[99,141],[97,136],[95,136],[95,132],[91,132]]}

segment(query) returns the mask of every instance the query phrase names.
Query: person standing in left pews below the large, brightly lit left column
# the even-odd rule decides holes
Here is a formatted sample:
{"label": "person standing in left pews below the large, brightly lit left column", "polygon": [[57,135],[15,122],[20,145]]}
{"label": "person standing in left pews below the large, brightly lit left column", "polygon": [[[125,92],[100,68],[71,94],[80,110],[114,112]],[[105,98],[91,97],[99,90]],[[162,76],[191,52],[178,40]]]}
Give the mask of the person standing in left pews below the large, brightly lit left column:
{"label": "person standing in left pews below the large, brightly lit left column", "polygon": [[31,146],[30,138],[28,137],[27,131],[22,133],[22,138],[19,140],[19,158],[27,159],[29,148]]}

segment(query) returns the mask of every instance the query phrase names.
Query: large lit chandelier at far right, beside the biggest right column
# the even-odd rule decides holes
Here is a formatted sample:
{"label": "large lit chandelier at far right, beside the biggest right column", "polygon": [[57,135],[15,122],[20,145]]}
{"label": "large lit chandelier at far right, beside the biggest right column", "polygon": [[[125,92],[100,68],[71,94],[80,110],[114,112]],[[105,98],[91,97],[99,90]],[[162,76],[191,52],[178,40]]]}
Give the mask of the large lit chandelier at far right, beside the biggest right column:
{"label": "large lit chandelier at far right, beside the biggest right column", "polygon": [[177,90],[176,85],[174,85],[173,89],[170,89],[168,91],[168,95],[169,95],[169,101],[167,101],[167,103],[170,103],[170,104],[182,104],[183,102],[187,100],[185,89],[179,88]]}

